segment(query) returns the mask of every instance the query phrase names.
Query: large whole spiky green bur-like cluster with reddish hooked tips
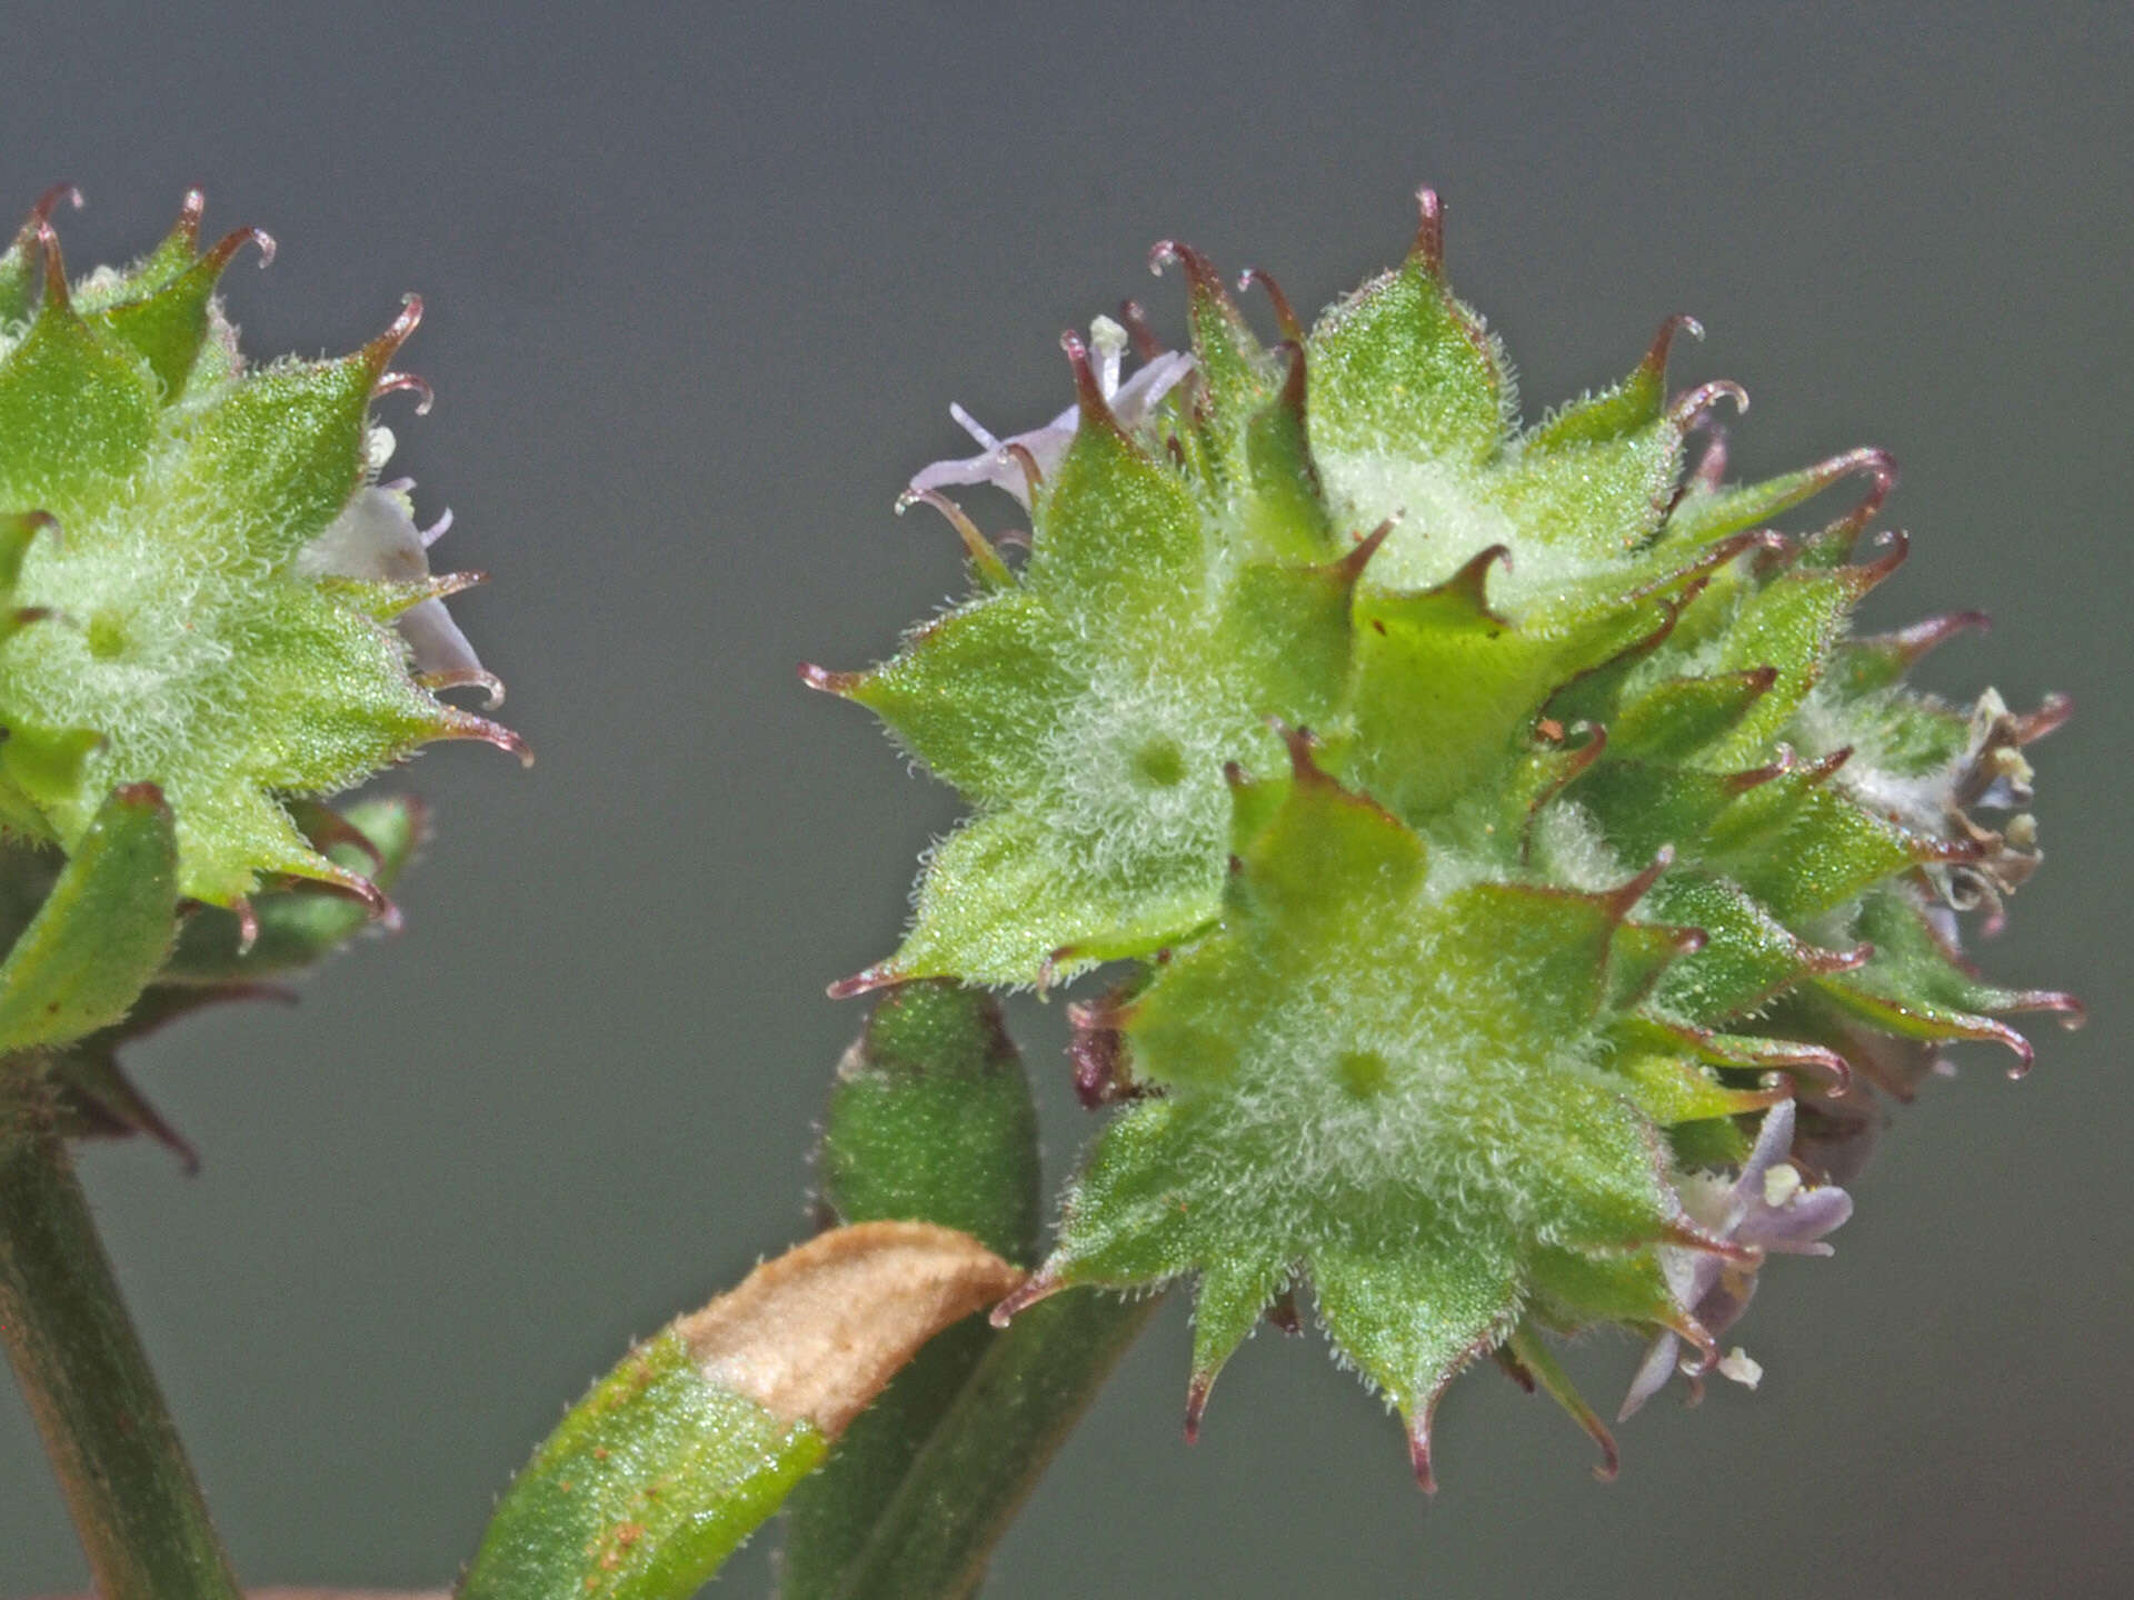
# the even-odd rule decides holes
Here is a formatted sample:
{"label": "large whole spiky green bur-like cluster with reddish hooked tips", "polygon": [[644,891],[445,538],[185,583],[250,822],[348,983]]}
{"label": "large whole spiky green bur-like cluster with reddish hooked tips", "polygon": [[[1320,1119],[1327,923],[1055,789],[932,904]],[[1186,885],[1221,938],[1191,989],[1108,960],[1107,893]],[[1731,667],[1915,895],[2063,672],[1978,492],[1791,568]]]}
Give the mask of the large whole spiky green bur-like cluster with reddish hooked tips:
{"label": "large whole spiky green bur-like cluster with reddish hooked tips", "polygon": [[[1852,629],[1904,559],[1867,538],[1889,461],[1729,484],[1741,390],[1665,388],[1686,318],[1519,427],[1428,192],[1406,262],[1308,333],[1261,275],[1272,350],[1201,256],[1165,262],[1191,356],[1133,307],[1133,380],[1125,329],[1095,363],[1069,335],[1076,410],[971,425],[984,454],[913,480],[977,593],[805,674],[975,804],[903,947],[834,992],[1133,962],[1076,1007],[1078,1084],[1120,1109],[1001,1314],[1197,1278],[1189,1429],[1308,1282],[1426,1483],[1479,1355],[1613,1463],[1541,1333],[1652,1333],[1626,1412],[1682,1342],[1754,1380],[1716,1338],[1767,1252],[1827,1250],[1867,1086],[1910,1097],[1955,1039],[2027,1065],[2004,1013],[2074,1013],[1957,954],[2038,862],[2021,747],[2066,708],[1904,685],[1976,619]],[[1769,527],[1848,478],[1831,525]],[[977,482],[1029,508],[1020,565],[939,495]]]}

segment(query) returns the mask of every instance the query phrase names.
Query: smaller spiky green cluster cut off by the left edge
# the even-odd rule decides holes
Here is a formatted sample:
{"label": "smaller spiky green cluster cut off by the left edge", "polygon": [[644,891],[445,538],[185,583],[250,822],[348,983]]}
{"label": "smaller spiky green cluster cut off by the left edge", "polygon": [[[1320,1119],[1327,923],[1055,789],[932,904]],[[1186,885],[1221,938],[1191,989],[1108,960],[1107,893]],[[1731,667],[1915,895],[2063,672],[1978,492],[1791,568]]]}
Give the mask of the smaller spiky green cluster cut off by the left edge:
{"label": "smaller spiky green cluster cut off by the left edge", "polygon": [[525,753],[437,691],[501,685],[431,576],[371,401],[420,305],[352,356],[250,367],[216,299],[241,228],[203,198],[73,282],[47,194],[0,252],[0,1071],[70,1135],[190,1148],[120,1047],[275,992],[369,919],[423,834],[410,800],[322,802],[433,738]]}

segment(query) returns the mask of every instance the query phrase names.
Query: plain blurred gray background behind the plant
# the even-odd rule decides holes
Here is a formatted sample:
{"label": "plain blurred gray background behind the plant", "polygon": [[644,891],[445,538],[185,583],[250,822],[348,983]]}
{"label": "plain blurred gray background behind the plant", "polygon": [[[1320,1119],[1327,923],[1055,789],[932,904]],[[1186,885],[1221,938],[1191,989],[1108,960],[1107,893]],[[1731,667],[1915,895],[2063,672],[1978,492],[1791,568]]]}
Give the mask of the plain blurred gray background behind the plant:
{"label": "plain blurred gray background behind the plant", "polygon": [[[896,15],[890,15],[890,13]],[[1857,442],[1914,533],[1872,614],[1985,604],[1927,678],[2074,693],[2040,753],[2051,862],[1991,951],[2093,1003],[2027,1084],[1965,1052],[1829,1263],[1743,1327],[1761,1395],[1658,1404],[1603,1489],[1494,1374],[1445,1491],[1317,1340],[1257,1340],[1178,1438],[1169,1308],[999,1557],[1005,1596],[2083,1596],[2134,1559],[2123,877],[2125,6],[992,9],[28,6],[6,192],[70,177],[87,267],[181,188],[269,226],[228,292],[256,354],[346,350],[418,288],[440,393],[384,416],[540,766],[410,774],[440,841],[408,930],[297,1011],[139,1052],[205,1150],[85,1161],[173,1404],[256,1581],[435,1583],[566,1397],[802,1229],[802,1150],[952,798],[800,657],[860,666],[958,582],[890,499],[1067,399],[1054,335],[1182,235],[1317,305],[1449,201],[1462,290],[1530,412],[1656,320],[1756,410],[1746,469]],[[994,521],[1001,510],[990,512]],[[1048,1154],[1058,1007],[1018,1013]],[[1575,1365],[1609,1404],[1633,1348]],[[762,1540],[728,1589],[766,1585]],[[0,1385],[0,1587],[81,1579]]]}

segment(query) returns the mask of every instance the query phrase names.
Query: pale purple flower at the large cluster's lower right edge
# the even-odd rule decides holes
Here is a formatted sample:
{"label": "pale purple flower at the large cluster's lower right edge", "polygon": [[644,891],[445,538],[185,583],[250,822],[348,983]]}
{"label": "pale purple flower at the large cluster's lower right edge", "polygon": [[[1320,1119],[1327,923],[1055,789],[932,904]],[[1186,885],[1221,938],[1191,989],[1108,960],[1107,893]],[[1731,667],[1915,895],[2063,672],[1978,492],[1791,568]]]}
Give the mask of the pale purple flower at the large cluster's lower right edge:
{"label": "pale purple flower at the large cluster's lower right edge", "polygon": [[[1827,1257],[1831,1246],[1822,1235],[1852,1216],[1852,1197],[1837,1184],[1810,1188],[1788,1161],[1793,1150],[1793,1101],[1780,1101],[1763,1116],[1756,1148],[1741,1163],[1733,1184],[1690,1173],[1682,1180],[1682,1207],[1690,1218],[1720,1239],[1746,1244],[1752,1250],[1797,1257]],[[1748,1310],[1756,1293],[1756,1265],[1724,1261],[1709,1250],[1660,1246],[1660,1267],[1675,1301],[1716,1340]],[[1630,1417],[1665,1385],[1682,1355],[1682,1338],[1662,1331],[1645,1353],[1630,1380],[1618,1421]],[[1735,1350],[1720,1361],[1720,1372],[1737,1382],[1763,1367]],[[1754,1382],[1750,1382],[1754,1387]]]}

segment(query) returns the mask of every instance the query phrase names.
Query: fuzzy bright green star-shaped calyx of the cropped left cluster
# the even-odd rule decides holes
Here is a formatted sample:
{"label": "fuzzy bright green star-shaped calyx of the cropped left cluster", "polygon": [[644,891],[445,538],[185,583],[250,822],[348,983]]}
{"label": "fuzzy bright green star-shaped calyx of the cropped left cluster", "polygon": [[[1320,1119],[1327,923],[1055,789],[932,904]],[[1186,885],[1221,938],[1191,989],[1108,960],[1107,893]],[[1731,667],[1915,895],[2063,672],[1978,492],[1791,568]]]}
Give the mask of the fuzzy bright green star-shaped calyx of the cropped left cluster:
{"label": "fuzzy bright green star-shaped calyx of the cropped left cluster", "polygon": [[190,194],[145,258],[70,282],[55,198],[0,254],[0,828],[73,851],[154,783],[181,898],[316,879],[382,909],[292,802],[437,738],[523,751],[437,698],[495,689],[437,604],[472,576],[429,576],[373,484],[371,401],[420,386],[388,371],[420,305],[352,356],[250,367],[216,282],[265,235],[203,252]]}

